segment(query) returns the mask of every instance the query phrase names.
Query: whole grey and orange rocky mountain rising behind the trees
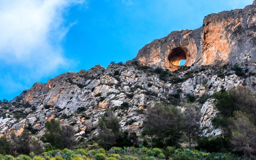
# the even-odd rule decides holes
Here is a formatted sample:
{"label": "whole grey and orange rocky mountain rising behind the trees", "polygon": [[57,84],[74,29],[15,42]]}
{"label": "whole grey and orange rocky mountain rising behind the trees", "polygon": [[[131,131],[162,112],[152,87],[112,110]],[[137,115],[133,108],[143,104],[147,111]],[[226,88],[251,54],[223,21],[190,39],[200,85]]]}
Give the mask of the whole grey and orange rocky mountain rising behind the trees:
{"label": "whole grey and orange rocky mountain rising behind the trees", "polygon": [[[185,66],[179,66],[186,60]],[[195,30],[174,31],[145,45],[126,63],[68,72],[35,83],[10,103],[0,104],[0,137],[24,129],[41,137],[45,122],[71,124],[77,138],[96,133],[98,118],[112,109],[123,130],[140,133],[143,111],[157,102],[177,105],[194,101],[204,135],[218,136],[210,96],[245,85],[256,93],[256,1],[244,9],[210,14]]]}

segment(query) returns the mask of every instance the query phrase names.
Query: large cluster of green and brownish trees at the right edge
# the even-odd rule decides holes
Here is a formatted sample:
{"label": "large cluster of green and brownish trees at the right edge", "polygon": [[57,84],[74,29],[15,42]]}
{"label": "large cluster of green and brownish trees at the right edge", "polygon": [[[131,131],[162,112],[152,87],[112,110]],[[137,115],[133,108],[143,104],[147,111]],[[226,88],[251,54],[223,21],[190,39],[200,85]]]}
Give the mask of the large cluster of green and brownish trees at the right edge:
{"label": "large cluster of green and brownish trees at the right edge", "polygon": [[225,148],[234,153],[256,158],[256,99],[244,86],[213,94],[218,109],[212,123],[221,127]]}

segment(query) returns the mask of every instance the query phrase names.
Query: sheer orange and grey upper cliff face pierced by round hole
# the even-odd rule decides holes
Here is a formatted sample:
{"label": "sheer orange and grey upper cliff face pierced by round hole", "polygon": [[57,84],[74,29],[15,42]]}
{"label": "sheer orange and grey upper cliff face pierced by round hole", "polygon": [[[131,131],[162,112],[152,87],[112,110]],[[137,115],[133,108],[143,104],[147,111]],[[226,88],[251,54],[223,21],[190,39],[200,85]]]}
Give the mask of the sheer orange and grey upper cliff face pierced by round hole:
{"label": "sheer orange and grey upper cliff face pierced by round hole", "polygon": [[173,31],[138,52],[142,65],[176,70],[185,65],[222,66],[226,63],[256,64],[256,1],[244,9],[223,11],[204,18],[195,30]]}

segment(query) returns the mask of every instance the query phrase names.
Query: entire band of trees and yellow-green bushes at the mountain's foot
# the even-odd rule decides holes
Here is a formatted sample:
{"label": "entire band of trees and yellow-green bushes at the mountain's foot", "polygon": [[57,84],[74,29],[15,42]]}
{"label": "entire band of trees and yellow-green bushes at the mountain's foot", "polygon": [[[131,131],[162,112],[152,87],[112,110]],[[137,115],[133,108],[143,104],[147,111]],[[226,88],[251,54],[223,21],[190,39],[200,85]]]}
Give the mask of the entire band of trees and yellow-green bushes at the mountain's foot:
{"label": "entire band of trees and yellow-green bushes at the mountain's foot", "polygon": [[[46,122],[46,132],[41,138],[48,144],[43,153],[38,141],[31,135],[37,131],[28,125],[27,130],[19,136],[12,134],[8,139],[0,138],[0,159],[14,159],[12,156],[17,156],[16,159],[87,160],[256,159],[256,99],[250,90],[238,86],[197,99],[200,104],[210,97],[213,98],[211,102],[215,100],[214,109],[218,112],[212,124],[223,131],[216,137],[202,136],[198,108],[200,104],[193,103],[196,100],[193,95],[186,96],[188,102],[180,104],[184,107],[181,108],[182,112],[177,107],[182,97],[179,90],[167,99],[167,104],[174,105],[156,103],[154,107],[148,105],[144,109],[135,110],[145,117],[143,125],[139,126],[142,130],[140,135],[121,130],[124,124],[130,125],[129,128],[133,127],[132,124],[137,124],[137,117],[135,119],[127,116],[127,121],[122,123],[117,117],[129,109],[128,102],[109,109],[99,118],[97,125],[85,131],[86,135],[78,142],[74,135],[81,130],[74,131],[71,125],[76,123],[73,120],[70,121],[71,125],[61,126],[60,121],[52,119]],[[138,104],[135,106],[139,107]],[[117,109],[120,111],[113,111]],[[77,113],[84,110],[85,108],[80,107]],[[85,114],[83,117],[90,118]],[[99,134],[92,135],[92,139],[87,140],[85,137],[88,137],[91,130],[97,130]],[[187,144],[183,142],[188,142],[189,149],[186,149]]]}

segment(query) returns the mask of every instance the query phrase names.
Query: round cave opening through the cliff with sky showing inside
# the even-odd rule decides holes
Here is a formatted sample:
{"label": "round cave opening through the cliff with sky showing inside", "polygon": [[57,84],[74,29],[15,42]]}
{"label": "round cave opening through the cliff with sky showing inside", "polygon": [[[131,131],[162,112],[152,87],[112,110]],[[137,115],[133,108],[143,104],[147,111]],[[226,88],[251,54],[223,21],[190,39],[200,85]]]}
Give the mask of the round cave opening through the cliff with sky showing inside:
{"label": "round cave opening through the cliff with sky showing inside", "polygon": [[169,53],[168,60],[174,66],[183,66],[187,60],[187,52],[181,47],[174,48]]}

